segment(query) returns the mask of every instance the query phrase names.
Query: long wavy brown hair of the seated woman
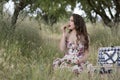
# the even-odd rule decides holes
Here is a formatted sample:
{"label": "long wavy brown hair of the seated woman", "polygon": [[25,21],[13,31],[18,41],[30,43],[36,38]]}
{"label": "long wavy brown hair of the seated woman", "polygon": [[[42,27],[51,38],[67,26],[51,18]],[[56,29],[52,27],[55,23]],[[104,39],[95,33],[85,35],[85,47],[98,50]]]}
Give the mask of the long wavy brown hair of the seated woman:
{"label": "long wavy brown hair of the seated woman", "polygon": [[80,41],[85,46],[85,50],[89,48],[89,39],[86,29],[86,24],[84,19],[78,14],[72,14],[73,21],[75,25],[75,30],[77,32],[77,41]]}

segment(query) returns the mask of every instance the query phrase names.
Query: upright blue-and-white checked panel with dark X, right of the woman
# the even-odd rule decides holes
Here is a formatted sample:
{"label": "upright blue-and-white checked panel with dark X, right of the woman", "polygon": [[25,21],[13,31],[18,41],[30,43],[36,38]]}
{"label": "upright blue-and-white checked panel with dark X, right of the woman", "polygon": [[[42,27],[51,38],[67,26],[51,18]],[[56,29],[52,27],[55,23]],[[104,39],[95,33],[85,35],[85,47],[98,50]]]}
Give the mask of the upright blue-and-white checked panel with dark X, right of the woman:
{"label": "upright blue-and-white checked panel with dark X, right of the woman", "polygon": [[116,47],[101,47],[98,51],[98,63],[114,64],[120,66],[120,46]]}

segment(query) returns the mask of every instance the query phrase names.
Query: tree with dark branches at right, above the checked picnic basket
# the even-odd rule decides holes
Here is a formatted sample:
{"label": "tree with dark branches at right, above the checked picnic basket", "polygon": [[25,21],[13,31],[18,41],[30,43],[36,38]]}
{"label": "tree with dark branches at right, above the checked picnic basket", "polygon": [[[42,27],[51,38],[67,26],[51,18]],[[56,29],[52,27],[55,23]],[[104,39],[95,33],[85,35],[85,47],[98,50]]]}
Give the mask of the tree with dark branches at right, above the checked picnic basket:
{"label": "tree with dark branches at right, above the checked picnic basket", "polygon": [[93,16],[95,13],[113,32],[117,32],[120,23],[120,0],[78,0],[78,2],[91,22],[96,21],[96,16]]}

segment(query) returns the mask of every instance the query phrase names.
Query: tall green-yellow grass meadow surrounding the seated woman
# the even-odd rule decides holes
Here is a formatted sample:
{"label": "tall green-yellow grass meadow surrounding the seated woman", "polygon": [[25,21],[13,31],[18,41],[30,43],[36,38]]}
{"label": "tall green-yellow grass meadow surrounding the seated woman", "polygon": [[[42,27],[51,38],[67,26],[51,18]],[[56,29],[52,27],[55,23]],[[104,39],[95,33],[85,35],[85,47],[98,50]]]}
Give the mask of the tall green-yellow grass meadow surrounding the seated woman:
{"label": "tall green-yellow grass meadow surrounding the seated woman", "polygon": [[[53,26],[25,18],[18,20],[14,33],[8,32],[8,19],[0,20],[0,80],[102,80],[98,73],[93,77],[84,71],[79,76],[67,71],[53,71],[52,62],[62,57],[59,50],[61,20]],[[90,37],[88,61],[97,65],[100,47],[120,46],[120,35],[113,35],[102,22],[86,23]],[[119,31],[120,32],[120,31]],[[104,80],[120,80],[116,72],[105,75]]]}

